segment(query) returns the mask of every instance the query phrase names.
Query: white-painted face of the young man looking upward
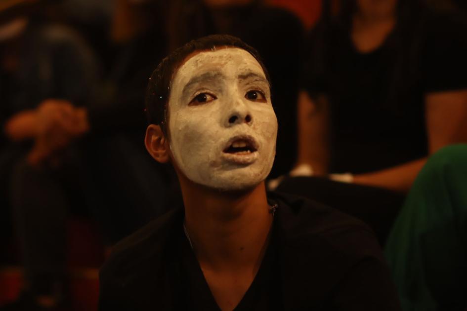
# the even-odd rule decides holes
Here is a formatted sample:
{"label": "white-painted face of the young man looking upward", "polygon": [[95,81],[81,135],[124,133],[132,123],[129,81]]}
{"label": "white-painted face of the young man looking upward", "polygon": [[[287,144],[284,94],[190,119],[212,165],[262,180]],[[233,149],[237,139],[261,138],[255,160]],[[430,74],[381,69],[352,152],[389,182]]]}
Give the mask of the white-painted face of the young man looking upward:
{"label": "white-painted face of the young man looking upward", "polygon": [[256,186],[275,156],[277,119],[269,84],[240,48],[201,52],[172,80],[170,148],[191,181],[219,190]]}

